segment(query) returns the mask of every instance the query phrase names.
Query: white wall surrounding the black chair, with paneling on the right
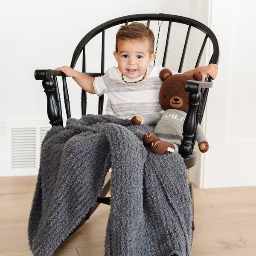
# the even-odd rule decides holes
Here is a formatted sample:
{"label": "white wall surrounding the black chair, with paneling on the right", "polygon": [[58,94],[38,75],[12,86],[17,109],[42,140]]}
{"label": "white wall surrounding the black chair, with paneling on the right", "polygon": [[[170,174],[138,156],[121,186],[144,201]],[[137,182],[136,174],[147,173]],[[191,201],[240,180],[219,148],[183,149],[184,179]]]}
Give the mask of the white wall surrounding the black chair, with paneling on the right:
{"label": "white wall surrounding the black chair, with paneling on the right", "polygon": [[[217,35],[221,50],[219,75],[209,94],[207,118],[204,120],[210,150],[202,160],[199,159],[198,166],[202,163],[203,168],[193,170],[189,176],[201,187],[255,185],[252,164],[255,121],[251,118],[255,86],[248,75],[254,72],[253,59],[256,57],[253,41],[250,41],[255,41],[255,28],[249,32],[250,22],[255,23],[256,19],[254,1],[245,0],[242,6],[236,0],[160,0],[157,3],[148,0],[147,4],[137,0],[86,2],[14,0],[1,4],[0,175],[37,174],[36,170],[27,169],[14,172],[6,163],[10,157],[7,155],[10,123],[35,122],[49,126],[46,97],[41,81],[34,79],[35,69],[69,65],[80,39],[106,20],[136,13],[170,13],[192,17],[210,26]],[[237,103],[244,88],[248,91],[247,104],[250,106],[245,114]],[[224,109],[217,108],[216,111],[220,101]],[[241,122],[238,116],[242,115]],[[243,157],[237,160],[241,152]],[[247,166],[243,168],[245,162]]]}

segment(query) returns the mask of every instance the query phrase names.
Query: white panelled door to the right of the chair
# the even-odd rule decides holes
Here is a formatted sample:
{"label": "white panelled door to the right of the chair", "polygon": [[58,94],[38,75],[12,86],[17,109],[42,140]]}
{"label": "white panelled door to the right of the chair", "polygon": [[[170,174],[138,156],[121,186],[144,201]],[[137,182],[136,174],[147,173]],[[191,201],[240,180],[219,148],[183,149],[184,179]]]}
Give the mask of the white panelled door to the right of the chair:
{"label": "white panelled door to the right of the chair", "polygon": [[255,12],[253,0],[212,0],[210,26],[220,61],[205,115],[209,151],[199,184],[204,188],[256,185]]}

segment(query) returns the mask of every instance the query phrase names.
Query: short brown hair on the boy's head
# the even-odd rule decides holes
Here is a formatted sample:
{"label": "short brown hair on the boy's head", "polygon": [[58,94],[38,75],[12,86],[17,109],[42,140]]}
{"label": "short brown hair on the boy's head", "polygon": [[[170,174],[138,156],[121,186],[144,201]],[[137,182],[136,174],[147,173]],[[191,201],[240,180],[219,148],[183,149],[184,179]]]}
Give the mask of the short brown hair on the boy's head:
{"label": "short brown hair on the boy's head", "polygon": [[148,40],[150,43],[149,52],[150,54],[154,52],[154,33],[143,23],[133,22],[119,28],[116,33],[116,52],[118,52],[118,41],[125,39]]}

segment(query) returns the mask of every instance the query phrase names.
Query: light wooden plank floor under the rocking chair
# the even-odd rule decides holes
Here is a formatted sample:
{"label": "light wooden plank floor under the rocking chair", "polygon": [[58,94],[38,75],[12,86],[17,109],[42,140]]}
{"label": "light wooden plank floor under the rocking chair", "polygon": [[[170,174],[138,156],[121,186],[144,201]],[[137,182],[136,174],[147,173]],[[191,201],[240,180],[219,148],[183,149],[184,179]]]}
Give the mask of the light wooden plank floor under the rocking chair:
{"label": "light wooden plank floor under the rocking chair", "polygon": [[[27,223],[35,176],[0,177],[0,256],[32,256]],[[194,189],[192,256],[256,256],[256,187]],[[54,256],[103,256],[109,206],[101,205]]]}

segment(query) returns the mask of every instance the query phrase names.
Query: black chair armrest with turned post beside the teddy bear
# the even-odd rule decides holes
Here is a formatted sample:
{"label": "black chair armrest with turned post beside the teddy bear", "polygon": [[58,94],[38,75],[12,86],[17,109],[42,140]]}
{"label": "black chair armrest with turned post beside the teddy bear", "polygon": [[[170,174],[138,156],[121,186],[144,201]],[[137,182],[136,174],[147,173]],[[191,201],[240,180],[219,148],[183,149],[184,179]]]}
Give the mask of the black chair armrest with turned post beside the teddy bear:
{"label": "black chair armrest with turned post beside the teddy bear", "polygon": [[189,155],[192,154],[193,151],[193,138],[198,124],[196,113],[201,100],[201,89],[211,88],[212,85],[212,81],[204,82],[188,80],[186,82],[185,90],[189,92],[189,111],[183,124],[183,140],[181,140],[179,148],[179,153],[183,158],[189,158]]}

